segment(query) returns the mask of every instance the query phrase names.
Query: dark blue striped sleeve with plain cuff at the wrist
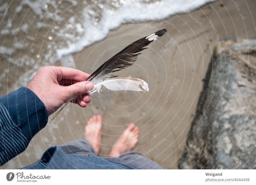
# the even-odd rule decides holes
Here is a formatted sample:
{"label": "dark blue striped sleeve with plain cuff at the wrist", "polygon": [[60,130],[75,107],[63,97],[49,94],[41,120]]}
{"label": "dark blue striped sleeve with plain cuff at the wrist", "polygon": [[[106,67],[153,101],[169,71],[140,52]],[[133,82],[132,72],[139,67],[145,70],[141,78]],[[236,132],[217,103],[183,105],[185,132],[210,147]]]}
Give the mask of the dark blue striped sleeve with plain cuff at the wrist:
{"label": "dark blue striped sleeve with plain cuff at the wrist", "polygon": [[23,152],[47,122],[44,103],[30,89],[0,98],[0,166]]}

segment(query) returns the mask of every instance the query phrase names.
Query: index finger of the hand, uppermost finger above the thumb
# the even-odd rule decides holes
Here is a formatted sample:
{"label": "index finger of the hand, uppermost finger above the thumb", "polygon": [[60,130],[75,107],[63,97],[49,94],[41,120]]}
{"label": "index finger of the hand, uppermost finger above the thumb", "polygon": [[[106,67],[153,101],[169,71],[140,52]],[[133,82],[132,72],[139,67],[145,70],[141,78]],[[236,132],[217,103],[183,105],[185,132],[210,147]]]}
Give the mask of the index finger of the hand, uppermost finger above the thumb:
{"label": "index finger of the hand, uppermost finger above the thumb", "polygon": [[61,72],[63,79],[70,79],[70,80],[82,82],[87,80],[87,78],[90,76],[89,74],[74,68],[65,68],[65,67],[55,67],[55,68],[57,68]]}

